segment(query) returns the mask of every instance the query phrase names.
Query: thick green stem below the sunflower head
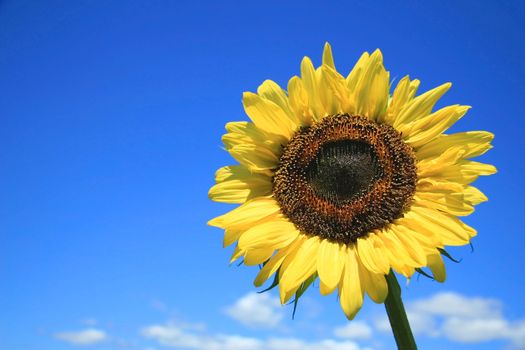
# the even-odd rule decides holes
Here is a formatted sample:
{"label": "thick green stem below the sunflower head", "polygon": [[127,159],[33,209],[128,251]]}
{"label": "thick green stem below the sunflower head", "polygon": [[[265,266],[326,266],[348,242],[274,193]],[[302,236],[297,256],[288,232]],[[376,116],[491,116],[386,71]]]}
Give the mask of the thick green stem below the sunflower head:
{"label": "thick green stem below the sunflower head", "polygon": [[401,300],[401,288],[394,271],[390,270],[386,276],[386,281],[388,283],[388,296],[385,300],[385,308],[397,348],[399,350],[417,350],[416,341],[412,335],[405,307]]}

